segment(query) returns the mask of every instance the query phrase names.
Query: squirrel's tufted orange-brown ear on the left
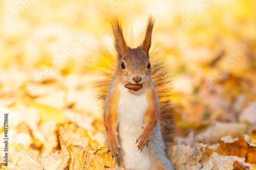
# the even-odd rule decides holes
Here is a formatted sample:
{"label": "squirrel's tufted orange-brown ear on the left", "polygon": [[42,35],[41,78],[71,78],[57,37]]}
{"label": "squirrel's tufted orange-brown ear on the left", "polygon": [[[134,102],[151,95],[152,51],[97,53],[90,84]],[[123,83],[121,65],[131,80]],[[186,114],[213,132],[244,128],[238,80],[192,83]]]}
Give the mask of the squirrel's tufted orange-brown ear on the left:
{"label": "squirrel's tufted orange-brown ear on the left", "polygon": [[128,48],[125,44],[122,27],[119,21],[117,19],[114,19],[113,21],[111,21],[111,25],[112,25],[114,38],[115,38],[114,45],[118,53],[118,59],[120,60],[122,55],[127,51]]}

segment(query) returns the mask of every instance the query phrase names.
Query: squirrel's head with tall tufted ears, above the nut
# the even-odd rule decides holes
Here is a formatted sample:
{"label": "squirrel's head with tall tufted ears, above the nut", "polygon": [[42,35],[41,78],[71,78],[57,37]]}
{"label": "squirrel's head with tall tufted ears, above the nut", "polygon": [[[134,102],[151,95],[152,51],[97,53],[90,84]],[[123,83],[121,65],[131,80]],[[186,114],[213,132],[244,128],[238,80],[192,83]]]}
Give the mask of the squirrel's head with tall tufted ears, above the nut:
{"label": "squirrel's head with tall tufted ears, above the nut", "polygon": [[145,38],[140,46],[131,48],[126,45],[122,28],[118,20],[111,22],[114,45],[118,54],[117,77],[123,83],[142,84],[150,80],[151,64],[149,51],[151,47],[154,19],[148,18]]}

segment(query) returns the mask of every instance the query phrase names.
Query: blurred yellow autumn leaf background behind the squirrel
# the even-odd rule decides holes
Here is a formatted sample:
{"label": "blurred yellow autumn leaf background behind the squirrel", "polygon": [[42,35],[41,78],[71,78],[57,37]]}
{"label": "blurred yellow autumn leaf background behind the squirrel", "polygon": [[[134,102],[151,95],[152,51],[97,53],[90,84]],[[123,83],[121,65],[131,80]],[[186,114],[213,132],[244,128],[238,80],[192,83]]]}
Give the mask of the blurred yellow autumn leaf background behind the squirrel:
{"label": "blurred yellow autumn leaf background behind the squirrel", "polygon": [[173,76],[176,144],[211,144],[256,131],[254,0],[12,0],[0,8],[0,112],[10,112],[11,159],[17,147],[41,157],[59,150],[65,123],[88,133],[71,143],[103,146],[100,103],[81,66],[98,39],[112,43],[113,17],[135,39],[148,15],[156,18],[153,44]]}

